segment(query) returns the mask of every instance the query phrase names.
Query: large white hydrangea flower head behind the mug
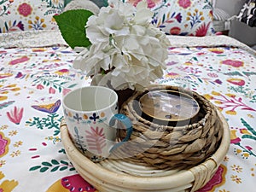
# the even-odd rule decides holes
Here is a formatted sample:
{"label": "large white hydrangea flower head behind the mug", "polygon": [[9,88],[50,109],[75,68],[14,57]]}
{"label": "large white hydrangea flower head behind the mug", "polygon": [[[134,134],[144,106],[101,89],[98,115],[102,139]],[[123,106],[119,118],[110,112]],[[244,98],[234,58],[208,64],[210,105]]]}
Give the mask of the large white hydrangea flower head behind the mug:
{"label": "large white hydrangea flower head behind the mug", "polygon": [[146,2],[136,9],[119,0],[108,4],[87,21],[91,46],[80,53],[74,67],[92,76],[92,84],[108,84],[115,90],[147,87],[163,75],[169,41],[151,24],[153,12]]}

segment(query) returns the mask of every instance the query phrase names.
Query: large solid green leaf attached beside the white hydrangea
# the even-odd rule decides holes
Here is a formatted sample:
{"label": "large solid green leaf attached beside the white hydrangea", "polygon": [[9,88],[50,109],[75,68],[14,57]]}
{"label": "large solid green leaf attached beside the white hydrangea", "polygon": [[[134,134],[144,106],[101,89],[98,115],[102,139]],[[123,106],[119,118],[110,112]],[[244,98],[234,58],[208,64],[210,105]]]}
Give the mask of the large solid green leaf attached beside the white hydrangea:
{"label": "large solid green leaf attached beside the white hydrangea", "polygon": [[77,9],[54,16],[62,37],[72,49],[76,46],[90,46],[90,41],[86,38],[85,25],[91,15],[93,14],[89,10]]}

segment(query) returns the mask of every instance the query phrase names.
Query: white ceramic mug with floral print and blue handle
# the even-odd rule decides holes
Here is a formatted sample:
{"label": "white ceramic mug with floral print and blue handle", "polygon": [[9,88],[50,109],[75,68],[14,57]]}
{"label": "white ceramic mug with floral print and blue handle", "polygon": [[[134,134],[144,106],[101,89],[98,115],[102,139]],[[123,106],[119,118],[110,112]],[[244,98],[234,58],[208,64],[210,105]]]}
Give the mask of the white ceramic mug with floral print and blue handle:
{"label": "white ceramic mug with floral print and blue handle", "polygon": [[[62,104],[69,135],[76,148],[90,160],[104,160],[113,148],[129,140],[131,120],[118,113],[115,91],[102,86],[83,87],[67,93]],[[124,127],[126,137],[118,143],[117,129]]]}

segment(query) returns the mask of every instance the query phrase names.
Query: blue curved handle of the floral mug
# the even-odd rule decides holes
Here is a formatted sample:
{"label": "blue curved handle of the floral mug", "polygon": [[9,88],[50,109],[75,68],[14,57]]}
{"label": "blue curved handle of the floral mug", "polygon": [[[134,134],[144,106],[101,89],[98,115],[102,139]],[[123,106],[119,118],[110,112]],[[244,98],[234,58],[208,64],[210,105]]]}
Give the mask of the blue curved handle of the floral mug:
{"label": "blue curved handle of the floral mug", "polygon": [[109,151],[110,153],[114,148],[118,148],[121,144],[127,142],[129,140],[129,138],[131,137],[131,133],[132,133],[131,120],[127,116],[125,116],[125,114],[121,114],[121,113],[114,114],[113,117],[109,121],[109,125],[113,126],[115,121],[117,121],[117,120],[121,121],[125,125],[126,136],[121,142],[113,145],[113,147]]}

